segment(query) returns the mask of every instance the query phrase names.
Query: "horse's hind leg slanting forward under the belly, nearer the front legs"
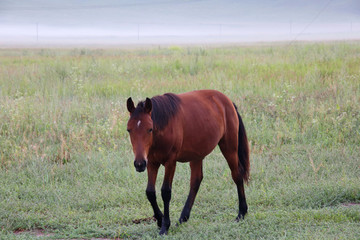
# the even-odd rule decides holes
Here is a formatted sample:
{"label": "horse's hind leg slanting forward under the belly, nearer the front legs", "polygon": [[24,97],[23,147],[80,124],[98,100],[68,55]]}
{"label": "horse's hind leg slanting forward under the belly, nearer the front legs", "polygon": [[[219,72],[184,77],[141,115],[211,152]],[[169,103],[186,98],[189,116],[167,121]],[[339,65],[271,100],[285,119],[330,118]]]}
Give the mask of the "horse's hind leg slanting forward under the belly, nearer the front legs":
{"label": "horse's hind leg slanting forward under the belly, nearer the front legs", "polygon": [[200,183],[203,179],[202,160],[190,162],[191,177],[190,177],[190,192],[186,200],[184,208],[181,212],[179,222],[186,222],[190,217],[190,211],[194,204],[196,194],[199,190]]}

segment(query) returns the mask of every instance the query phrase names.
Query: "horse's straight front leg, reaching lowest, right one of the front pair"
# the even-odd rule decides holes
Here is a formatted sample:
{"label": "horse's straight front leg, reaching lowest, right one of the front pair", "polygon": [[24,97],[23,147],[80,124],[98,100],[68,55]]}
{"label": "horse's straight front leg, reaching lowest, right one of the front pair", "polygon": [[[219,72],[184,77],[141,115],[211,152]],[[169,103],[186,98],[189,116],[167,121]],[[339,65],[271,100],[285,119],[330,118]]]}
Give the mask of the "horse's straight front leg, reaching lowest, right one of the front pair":
{"label": "horse's straight front leg, reaching lowest, right one of the front pair", "polygon": [[172,180],[174,178],[176,168],[176,162],[168,161],[165,164],[165,176],[164,182],[161,187],[161,197],[164,201],[164,217],[162,220],[162,225],[160,229],[160,235],[167,234],[170,227],[170,214],[169,214],[169,205],[171,200],[171,186]]}

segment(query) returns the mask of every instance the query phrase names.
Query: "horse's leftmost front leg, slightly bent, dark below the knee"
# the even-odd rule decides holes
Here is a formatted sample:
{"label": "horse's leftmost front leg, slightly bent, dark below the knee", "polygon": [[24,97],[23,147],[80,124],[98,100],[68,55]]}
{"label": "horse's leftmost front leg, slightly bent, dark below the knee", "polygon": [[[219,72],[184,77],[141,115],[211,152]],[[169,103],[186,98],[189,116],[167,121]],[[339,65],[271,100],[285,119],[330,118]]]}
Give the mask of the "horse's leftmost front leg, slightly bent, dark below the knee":
{"label": "horse's leftmost front leg, slightly bent, dark below the knee", "polygon": [[148,164],[147,172],[148,172],[148,185],[146,188],[146,196],[154,210],[154,217],[157,221],[157,225],[160,228],[162,224],[163,214],[159,209],[159,206],[156,201],[156,191],[155,191],[155,182],[157,173],[159,170],[159,164]]}

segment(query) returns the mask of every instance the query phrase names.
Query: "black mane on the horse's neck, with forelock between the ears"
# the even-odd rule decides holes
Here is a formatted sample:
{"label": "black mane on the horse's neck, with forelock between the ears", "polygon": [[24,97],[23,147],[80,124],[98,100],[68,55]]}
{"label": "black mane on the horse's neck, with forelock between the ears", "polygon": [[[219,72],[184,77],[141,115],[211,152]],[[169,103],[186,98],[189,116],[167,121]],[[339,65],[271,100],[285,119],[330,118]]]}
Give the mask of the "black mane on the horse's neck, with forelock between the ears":
{"label": "black mane on the horse's neck, with forelock between the ears", "polygon": [[[165,93],[151,98],[151,118],[155,129],[161,130],[169,123],[169,120],[178,112],[180,101],[180,98],[173,93]],[[144,107],[145,102],[139,102],[132,115],[143,113]]]}

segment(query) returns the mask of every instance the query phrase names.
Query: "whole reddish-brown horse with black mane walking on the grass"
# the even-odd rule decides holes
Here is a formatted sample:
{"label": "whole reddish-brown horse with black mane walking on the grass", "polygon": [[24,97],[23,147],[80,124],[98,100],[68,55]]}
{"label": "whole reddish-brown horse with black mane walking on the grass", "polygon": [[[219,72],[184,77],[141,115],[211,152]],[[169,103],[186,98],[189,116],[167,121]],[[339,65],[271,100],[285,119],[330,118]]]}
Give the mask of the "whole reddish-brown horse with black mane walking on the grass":
{"label": "whole reddish-brown horse with black mane walking on the grass", "polygon": [[[190,217],[196,193],[203,179],[203,159],[219,145],[236,183],[239,212],[236,220],[247,213],[244,181],[249,179],[249,146],[244,124],[231,100],[214,90],[200,90],[183,94],[167,93],[139,102],[135,107],[127,100],[130,119],[127,131],[135,154],[136,171],[147,168],[146,196],[154,210],[160,234],[170,227],[169,202],[176,162],[189,162],[191,168],[190,193],[179,222]],[[161,188],[164,214],[158,207],[155,181],[160,165],[165,166]]]}

